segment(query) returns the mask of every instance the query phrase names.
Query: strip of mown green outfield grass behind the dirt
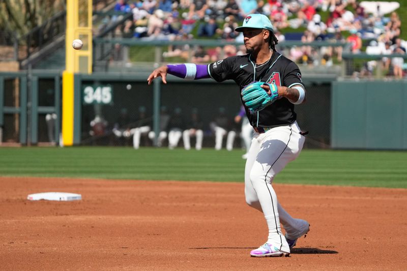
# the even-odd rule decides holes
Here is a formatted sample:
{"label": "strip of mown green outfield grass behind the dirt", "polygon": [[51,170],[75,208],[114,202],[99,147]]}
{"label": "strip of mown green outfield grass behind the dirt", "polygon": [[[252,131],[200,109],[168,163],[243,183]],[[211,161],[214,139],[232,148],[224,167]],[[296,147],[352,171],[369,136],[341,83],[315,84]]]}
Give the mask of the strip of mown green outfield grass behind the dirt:
{"label": "strip of mown green outfield grass behind the dirt", "polygon": [[[242,154],[210,148],[2,147],[0,175],[243,182]],[[305,149],[275,182],[407,188],[407,152]]]}

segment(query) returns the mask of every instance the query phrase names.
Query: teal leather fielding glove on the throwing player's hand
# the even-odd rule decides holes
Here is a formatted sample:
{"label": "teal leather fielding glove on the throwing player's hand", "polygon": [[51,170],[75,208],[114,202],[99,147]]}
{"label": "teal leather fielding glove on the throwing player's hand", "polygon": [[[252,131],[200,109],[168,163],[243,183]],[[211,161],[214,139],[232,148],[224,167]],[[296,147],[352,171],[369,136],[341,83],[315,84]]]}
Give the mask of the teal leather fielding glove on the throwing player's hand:
{"label": "teal leather fielding glove on the throwing player's hand", "polygon": [[[269,96],[266,89],[262,88],[261,85],[268,85],[270,87],[271,96]],[[263,110],[266,106],[278,99],[277,85],[265,82],[251,82],[242,89],[241,95],[245,106],[251,112],[257,112]]]}

